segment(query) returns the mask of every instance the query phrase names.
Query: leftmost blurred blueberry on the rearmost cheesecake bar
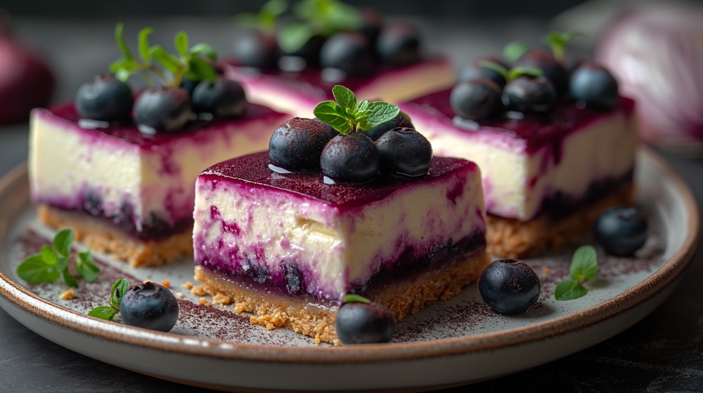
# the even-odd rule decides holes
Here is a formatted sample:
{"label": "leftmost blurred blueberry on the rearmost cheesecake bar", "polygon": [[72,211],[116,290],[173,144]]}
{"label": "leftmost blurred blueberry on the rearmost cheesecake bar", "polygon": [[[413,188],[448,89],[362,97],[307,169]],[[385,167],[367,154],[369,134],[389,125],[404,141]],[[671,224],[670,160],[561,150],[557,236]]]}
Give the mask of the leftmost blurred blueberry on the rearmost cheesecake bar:
{"label": "leftmost blurred blueberry on the rearmost cheesecake bar", "polygon": [[278,61],[276,36],[260,29],[243,29],[233,43],[233,57],[238,65],[271,69]]}

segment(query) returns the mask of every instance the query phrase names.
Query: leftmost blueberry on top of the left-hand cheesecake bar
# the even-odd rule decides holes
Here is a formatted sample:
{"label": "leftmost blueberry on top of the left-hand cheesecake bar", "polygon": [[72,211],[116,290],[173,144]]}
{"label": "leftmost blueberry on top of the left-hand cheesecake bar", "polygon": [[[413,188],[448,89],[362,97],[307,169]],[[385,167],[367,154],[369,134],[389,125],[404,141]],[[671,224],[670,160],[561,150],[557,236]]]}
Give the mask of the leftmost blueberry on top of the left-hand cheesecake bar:
{"label": "leftmost blueberry on top of the left-hand cheesecake bar", "polygon": [[76,112],[87,119],[111,121],[125,119],[134,105],[129,85],[111,74],[100,74],[79,86]]}

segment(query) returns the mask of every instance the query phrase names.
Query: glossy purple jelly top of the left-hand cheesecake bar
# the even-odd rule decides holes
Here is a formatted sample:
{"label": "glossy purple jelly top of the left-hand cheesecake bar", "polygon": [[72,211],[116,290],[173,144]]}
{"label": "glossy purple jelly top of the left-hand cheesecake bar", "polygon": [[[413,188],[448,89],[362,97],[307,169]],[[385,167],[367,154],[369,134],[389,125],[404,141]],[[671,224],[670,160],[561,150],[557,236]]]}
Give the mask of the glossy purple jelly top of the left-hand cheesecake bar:
{"label": "glossy purple jelly top of the left-hand cheesecake bar", "polygon": [[[67,103],[65,105],[60,105],[59,107],[54,107],[50,110],[50,112],[65,121],[69,121],[70,123],[75,124],[75,126],[78,127],[78,121],[80,120],[80,116],[76,112],[75,106],[72,102]],[[186,127],[183,128],[183,130],[172,133],[155,133],[153,135],[142,133],[138,130],[136,124],[134,124],[134,121],[131,120],[124,122],[112,121],[108,128],[95,128],[86,131],[94,131],[95,133],[108,135],[111,138],[117,138],[119,140],[124,140],[125,142],[138,145],[145,149],[150,149],[157,145],[163,145],[166,142],[171,142],[174,139],[195,138],[198,134],[195,131],[201,130],[202,128],[226,126],[227,124],[231,124],[232,122],[238,122],[239,124],[245,125],[249,121],[262,119],[266,116],[280,116],[280,113],[274,111],[269,107],[252,104],[250,102],[247,104],[247,112],[243,117],[213,119],[210,121],[188,121],[188,124],[186,124]]]}

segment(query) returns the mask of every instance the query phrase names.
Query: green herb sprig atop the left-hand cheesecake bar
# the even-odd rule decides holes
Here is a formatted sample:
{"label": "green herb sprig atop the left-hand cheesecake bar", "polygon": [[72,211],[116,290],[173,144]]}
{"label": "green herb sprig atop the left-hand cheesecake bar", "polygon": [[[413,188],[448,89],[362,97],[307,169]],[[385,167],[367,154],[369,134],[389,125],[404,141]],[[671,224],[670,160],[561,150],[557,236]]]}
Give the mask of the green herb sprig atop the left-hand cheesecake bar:
{"label": "green herb sprig atop the left-hand cheesecake bar", "polygon": [[189,46],[188,34],[177,32],[174,36],[176,53],[166,51],[160,45],[150,45],[149,35],[153,28],[144,27],[137,38],[138,57],[135,56],[124,41],[122,23],[115,26],[115,41],[122,52],[122,58],[110,65],[110,72],[117,79],[127,81],[134,74],[142,74],[149,86],[154,86],[153,76],[161,79],[167,87],[181,86],[183,77],[193,81],[214,81],[217,72],[212,62],[217,61],[217,52],[209,44]]}

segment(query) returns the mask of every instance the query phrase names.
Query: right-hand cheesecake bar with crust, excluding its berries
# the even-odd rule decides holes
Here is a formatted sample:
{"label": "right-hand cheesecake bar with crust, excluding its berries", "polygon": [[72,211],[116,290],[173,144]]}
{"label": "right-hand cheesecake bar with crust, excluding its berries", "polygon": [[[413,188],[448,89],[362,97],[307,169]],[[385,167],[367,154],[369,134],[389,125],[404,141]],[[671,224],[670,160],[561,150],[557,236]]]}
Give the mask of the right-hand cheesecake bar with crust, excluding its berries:
{"label": "right-hand cheesecake bar with crust, excluding its berries", "polygon": [[606,208],[633,201],[635,102],[612,110],[562,100],[549,114],[505,112],[465,121],[451,89],[400,104],[443,156],[482,171],[489,252],[523,258],[591,230]]}

